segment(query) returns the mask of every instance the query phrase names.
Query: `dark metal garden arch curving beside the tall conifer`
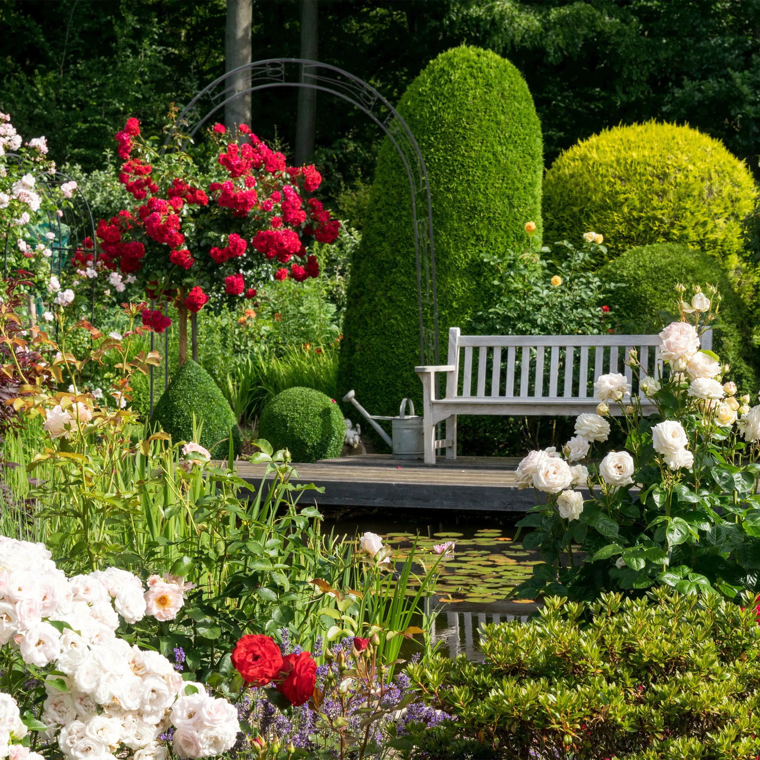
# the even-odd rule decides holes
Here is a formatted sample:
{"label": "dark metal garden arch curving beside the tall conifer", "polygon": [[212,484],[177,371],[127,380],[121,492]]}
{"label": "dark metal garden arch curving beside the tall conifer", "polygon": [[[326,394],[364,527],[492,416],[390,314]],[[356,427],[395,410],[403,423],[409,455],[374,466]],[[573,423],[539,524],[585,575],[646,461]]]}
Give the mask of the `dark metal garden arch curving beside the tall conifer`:
{"label": "dark metal garden arch curving beside the tall conifer", "polygon": [[[230,78],[242,71],[249,71],[251,86],[246,90],[233,90],[229,84]],[[412,198],[417,302],[420,311],[420,362],[438,364],[438,303],[435,290],[430,183],[425,161],[414,135],[385,97],[365,81],[327,63],[300,58],[266,59],[235,68],[211,82],[185,106],[179,114],[178,122],[193,122],[190,135],[195,135],[217,111],[224,108],[226,103],[245,93],[270,90],[274,87],[306,87],[343,98],[366,113],[394,144],[404,163],[404,169],[407,170]],[[211,108],[201,117],[199,109],[208,101],[211,102]],[[419,215],[418,207],[422,207]]]}

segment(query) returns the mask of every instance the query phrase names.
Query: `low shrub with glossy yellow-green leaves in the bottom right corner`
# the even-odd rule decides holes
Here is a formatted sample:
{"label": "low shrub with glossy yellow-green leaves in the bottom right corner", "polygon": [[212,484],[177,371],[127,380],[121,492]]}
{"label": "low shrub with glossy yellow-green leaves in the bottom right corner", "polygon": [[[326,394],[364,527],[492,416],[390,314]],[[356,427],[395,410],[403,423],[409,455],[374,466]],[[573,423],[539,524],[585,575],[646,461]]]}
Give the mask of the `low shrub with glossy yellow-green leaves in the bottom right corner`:
{"label": "low shrub with glossy yellow-green leaves in the bottom right corner", "polygon": [[[426,702],[454,716],[461,754],[473,739],[500,757],[556,760],[760,754],[760,628],[718,594],[605,594],[592,604],[545,600],[540,616],[486,625],[484,663],[434,655],[407,668]],[[413,731],[412,757],[445,746]],[[480,756],[484,753],[481,752]]]}

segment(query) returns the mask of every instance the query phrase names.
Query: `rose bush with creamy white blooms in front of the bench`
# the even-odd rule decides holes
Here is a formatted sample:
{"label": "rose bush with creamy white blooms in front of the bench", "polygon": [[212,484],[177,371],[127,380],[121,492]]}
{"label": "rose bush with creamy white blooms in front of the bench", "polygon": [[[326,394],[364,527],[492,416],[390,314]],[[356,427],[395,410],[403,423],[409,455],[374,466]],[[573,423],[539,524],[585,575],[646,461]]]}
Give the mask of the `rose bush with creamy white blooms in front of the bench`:
{"label": "rose bush with creamy white blooms in front of the bench", "polygon": [[[533,486],[542,503],[518,525],[534,528],[523,543],[543,559],[521,596],[668,584],[733,598],[760,589],[760,406],[701,348],[717,289],[695,286],[691,302],[685,290],[676,288],[680,320],[660,333],[657,372],[648,375],[652,358],[631,350],[630,375],[597,378],[596,413],[578,416],[562,451],[521,461],[518,485]],[[612,425],[624,448],[597,453]]]}

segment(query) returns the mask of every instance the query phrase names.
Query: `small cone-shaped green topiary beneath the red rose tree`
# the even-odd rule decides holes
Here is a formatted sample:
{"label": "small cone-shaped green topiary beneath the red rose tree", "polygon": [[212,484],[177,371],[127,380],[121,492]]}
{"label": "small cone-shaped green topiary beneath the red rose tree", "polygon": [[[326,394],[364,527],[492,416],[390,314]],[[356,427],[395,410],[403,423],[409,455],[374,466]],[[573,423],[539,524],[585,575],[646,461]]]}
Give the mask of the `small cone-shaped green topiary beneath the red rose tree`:
{"label": "small cone-shaped green topiary beneath the red rose tree", "polygon": [[174,441],[192,441],[192,420],[201,430],[201,446],[217,459],[226,459],[229,452],[230,430],[233,435],[235,456],[242,442],[237,420],[230,404],[214,378],[192,359],[187,359],[163,391],[154,407],[152,422],[159,423]]}

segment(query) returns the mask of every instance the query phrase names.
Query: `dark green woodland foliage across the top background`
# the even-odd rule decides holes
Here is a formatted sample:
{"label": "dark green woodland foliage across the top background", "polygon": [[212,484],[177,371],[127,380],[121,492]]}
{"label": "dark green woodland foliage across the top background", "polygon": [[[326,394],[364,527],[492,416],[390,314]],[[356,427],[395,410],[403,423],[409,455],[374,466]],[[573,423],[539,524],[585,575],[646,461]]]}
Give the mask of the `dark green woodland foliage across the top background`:
{"label": "dark green woodland foliage across the top background", "polygon": [[[97,169],[127,116],[151,133],[169,102],[223,73],[225,13],[223,0],[5,0],[0,109],[21,134],[46,135],[59,164]],[[322,0],[319,58],[397,103],[440,52],[480,46],[527,81],[546,166],[603,127],[656,118],[720,138],[758,176],[758,27],[760,0]],[[252,34],[254,59],[297,57],[296,0],[254,0]],[[290,150],[296,90],[259,93],[253,113],[255,131]],[[320,93],[315,159],[333,198],[372,179],[380,138]]]}

